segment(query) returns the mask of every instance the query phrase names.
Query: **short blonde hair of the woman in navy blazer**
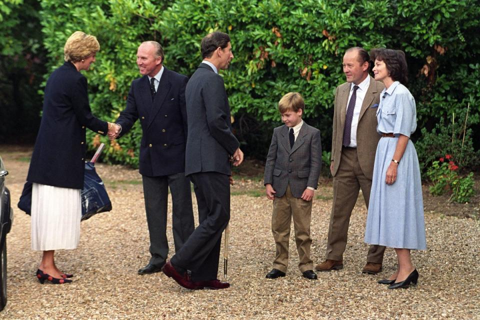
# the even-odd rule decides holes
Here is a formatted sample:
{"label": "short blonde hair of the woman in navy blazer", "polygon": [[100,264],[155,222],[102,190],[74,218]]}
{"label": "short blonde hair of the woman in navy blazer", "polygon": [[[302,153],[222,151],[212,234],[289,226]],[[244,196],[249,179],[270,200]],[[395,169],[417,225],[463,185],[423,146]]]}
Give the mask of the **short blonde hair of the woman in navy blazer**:
{"label": "short blonde hair of the woman in navy blazer", "polygon": [[73,32],[63,47],[65,61],[77,62],[98,52],[100,44],[96,37],[82,31]]}

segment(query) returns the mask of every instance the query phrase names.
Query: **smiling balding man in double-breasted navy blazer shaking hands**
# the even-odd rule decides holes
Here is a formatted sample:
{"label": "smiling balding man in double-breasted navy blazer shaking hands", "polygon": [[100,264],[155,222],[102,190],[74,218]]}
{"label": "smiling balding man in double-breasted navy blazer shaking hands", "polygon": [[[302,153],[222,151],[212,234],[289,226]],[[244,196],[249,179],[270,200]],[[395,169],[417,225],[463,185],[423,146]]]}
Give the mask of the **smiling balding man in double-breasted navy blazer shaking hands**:
{"label": "smiling balding man in double-breasted navy blazer shaking hands", "polygon": [[[139,119],[143,131],[139,171],[143,182],[146,220],[150,235],[148,264],[139,274],[158,272],[168,254],[166,214],[168,187],[172,198],[172,233],[175,251],[193,231],[190,180],[185,177],[187,121],[185,86],[188,78],[163,66],[158,42],[140,44],[136,64],[143,74],[132,81],[126,108],[116,120],[122,136]],[[110,136],[114,138],[115,136]]]}

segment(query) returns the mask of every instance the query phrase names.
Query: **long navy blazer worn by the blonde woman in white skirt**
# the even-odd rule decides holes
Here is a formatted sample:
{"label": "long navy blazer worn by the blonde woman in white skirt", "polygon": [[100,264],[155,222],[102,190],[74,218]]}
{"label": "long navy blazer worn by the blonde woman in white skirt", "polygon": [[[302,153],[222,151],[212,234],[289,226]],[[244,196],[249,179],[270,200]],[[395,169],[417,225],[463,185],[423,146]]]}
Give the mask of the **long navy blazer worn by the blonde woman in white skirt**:
{"label": "long navy blazer worn by the blonde woman in white skirt", "polygon": [[65,62],[46,82],[27,181],[83,188],[85,127],[102,135],[108,131],[108,123],[91,114],[86,78]]}

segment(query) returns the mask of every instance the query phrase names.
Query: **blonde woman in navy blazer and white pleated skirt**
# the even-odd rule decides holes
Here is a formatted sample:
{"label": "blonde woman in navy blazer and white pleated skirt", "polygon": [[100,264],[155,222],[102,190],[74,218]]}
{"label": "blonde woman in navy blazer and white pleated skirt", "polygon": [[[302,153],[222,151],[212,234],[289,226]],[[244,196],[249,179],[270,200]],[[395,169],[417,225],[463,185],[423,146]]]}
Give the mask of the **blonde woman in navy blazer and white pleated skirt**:
{"label": "blonde woman in navy blazer and white pleated skirt", "polygon": [[109,122],[91,114],[88,70],[100,46],[96,37],[74,32],[63,48],[65,62],[54,70],[45,86],[43,113],[27,181],[33,183],[31,245],[43,251],[36,276],[43,283],[71,282],[54,262],[54,250],[73,249],[79,240],[81,198],[86,152],[85,128],[105,135]]}

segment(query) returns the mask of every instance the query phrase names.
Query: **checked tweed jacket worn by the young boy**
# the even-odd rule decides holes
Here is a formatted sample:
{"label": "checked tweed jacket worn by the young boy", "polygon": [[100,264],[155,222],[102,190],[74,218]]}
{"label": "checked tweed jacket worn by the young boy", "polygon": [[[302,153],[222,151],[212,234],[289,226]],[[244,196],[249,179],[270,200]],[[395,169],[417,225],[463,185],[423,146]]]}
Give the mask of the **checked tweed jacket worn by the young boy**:
{"label": "checked tweed jacket worn by the young boy", "polygon": [[286,125],[273,129],[266,156],[263,184],[270,183],[275,196],[283,196],[289,184],[291,194],[299,198],[307,186],[316,189],[321,169],[320,131],[303,121],[293,147]]}

